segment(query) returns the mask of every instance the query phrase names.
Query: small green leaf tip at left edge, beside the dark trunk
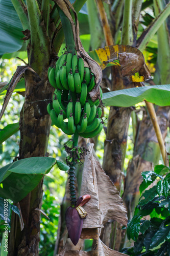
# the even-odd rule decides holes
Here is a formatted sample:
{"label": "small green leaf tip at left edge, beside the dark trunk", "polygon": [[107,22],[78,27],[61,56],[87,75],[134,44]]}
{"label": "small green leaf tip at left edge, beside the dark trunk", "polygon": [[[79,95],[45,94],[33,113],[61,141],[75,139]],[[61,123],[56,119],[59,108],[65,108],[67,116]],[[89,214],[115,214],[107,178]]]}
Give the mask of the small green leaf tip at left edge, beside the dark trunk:
{"label": "small green leaf tip at left edge, beside the dark trunk", "polygon": [[0,145],[17,131],[19,131],[19,123],[11,123],[5,126],[0,131]]}

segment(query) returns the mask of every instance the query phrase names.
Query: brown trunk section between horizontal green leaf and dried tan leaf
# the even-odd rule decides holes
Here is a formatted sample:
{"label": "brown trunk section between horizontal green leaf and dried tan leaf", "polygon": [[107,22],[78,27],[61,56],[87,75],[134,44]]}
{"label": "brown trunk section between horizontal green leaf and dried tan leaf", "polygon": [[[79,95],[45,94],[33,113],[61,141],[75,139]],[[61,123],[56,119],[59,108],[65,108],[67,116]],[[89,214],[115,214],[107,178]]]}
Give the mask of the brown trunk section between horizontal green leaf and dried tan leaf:
{"label": "brown trunk section between horizontal green leaf and dried tan leaf", "polygon": [[131,112],[132,110],[130,108],[117,108],[111,106],[108,117],[103,168],[118,191],[120,191],[123,178],[123,167]]}

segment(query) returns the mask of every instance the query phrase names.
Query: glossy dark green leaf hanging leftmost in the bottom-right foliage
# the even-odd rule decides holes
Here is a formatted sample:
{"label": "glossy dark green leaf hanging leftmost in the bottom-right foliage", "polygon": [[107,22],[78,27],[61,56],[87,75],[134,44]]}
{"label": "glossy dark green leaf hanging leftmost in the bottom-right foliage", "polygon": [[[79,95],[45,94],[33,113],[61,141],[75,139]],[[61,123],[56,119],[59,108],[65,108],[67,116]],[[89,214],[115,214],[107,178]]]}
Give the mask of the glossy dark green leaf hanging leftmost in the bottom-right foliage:
{"label": "glossy dark green leaf hanging leftmost in the bottom-right foliage", "polygon": [[137,240],[140,231],[140,216],[134,216],[127,227],[127,237],[128,239]]}

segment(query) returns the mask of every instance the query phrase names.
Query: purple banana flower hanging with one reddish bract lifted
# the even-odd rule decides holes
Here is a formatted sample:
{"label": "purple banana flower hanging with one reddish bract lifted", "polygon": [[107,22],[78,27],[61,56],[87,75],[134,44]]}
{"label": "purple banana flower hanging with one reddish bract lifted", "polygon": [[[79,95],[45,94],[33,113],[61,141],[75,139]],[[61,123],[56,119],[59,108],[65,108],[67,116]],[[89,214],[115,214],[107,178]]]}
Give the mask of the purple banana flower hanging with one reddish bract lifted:
{"label": "purple banana flower hanging with one reddish bract lifted", "polygon": [[83,227],[83,219],[87,213],[83,209],[83,205],[90,200],[90,195],[84,195],[77,200],[76,207],[69,206],[65,214],[65,222],[68,230],[69,238],[74,245],[77,245]]}

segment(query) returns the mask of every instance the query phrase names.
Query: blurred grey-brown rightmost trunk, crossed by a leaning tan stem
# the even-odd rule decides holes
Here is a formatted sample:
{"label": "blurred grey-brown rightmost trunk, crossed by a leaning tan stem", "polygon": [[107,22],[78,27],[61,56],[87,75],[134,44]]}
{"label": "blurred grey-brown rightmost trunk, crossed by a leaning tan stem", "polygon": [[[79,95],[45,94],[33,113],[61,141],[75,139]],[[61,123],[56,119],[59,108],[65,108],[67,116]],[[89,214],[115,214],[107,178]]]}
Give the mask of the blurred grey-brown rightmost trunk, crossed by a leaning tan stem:
{"label": "blurred grey-brown rightmost trunk, crossed by a leaning tan stem", "polygon": [[[167,134],[170,118],[169,106],[156,106],[156,114],[163,140]],[[134,207],[139,199],[139,186],[142,181],[141,173],[153,169],[158,164],[160,149],[151,119],[145,113],[136,136],[134,156],[127,169],[123,200],[128,209],[128,217],[132,218]]]}

